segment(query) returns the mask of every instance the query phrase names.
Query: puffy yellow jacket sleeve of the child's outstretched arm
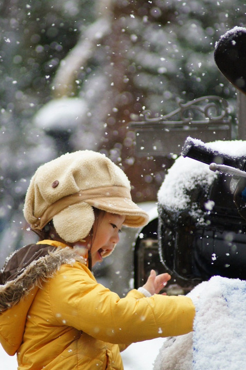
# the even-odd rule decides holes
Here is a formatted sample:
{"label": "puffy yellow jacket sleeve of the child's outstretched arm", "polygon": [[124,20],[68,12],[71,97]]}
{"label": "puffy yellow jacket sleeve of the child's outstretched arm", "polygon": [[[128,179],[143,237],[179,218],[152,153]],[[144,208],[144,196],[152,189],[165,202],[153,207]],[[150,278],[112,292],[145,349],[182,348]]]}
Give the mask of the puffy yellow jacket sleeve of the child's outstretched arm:
{"label": "puffy yellow jacket sleeve of the child's outstretched arm", "polygon": [[79,263],[63,265],[48,284],[57,324],[105,342],[126,344],[192,331],[195,307],[188,297],[154,294],[146,298],[133,289],[119,298]]}

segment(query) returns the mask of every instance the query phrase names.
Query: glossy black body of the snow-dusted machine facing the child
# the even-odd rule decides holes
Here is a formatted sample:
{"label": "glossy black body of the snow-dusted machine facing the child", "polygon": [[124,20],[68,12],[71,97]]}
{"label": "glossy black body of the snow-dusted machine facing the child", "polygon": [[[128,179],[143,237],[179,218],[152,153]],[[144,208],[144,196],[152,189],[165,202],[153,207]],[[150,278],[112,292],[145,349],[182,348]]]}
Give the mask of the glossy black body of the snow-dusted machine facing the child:
{"label": "glossy black body of the snow-dusted machine facing the child", "polygon": [[[243,171],[246,152],[245,157],[230,157],[188,138],[182,154],[203,163],[213,163],[210,168],[220,171],[220,174],[209,189],[199,184],[190,195],[188,209],[195,202],[199,205],[204,212],[202,225],[196,223],[188,209],[173,214],[165,205],[159,205],[159,252],[164,267],[190,284],[213,275],[246,280],[246,204],[243,192],[246,187],[246,172]],[[209,211],[204,209],[207,201],[214,205]]]}

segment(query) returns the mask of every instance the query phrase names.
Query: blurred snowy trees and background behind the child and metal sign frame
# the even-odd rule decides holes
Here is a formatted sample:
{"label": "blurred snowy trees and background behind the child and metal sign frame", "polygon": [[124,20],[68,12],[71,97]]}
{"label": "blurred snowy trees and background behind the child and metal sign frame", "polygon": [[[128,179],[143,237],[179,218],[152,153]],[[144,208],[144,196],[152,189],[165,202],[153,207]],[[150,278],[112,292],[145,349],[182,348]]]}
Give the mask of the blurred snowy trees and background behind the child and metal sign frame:
{"label": "blurred snowy trees and background behind the child and metal sign frame", "polygon": [[[42,163],[69,151],[105,153],[128,175],[133,200],[148,205],[175,156],[137,157],[129,122],[145,109],[165,115],[180,101],[218,95],[237,125],[237,94],[215,65],[214,48],[227,30],[245,26],[244,3],[0,1],[1,267],[36,240],[22,209]],[[123,233],[121,254],[95,272],[113,266],[107,281],[121,295],[132,284],[136,234]]]}

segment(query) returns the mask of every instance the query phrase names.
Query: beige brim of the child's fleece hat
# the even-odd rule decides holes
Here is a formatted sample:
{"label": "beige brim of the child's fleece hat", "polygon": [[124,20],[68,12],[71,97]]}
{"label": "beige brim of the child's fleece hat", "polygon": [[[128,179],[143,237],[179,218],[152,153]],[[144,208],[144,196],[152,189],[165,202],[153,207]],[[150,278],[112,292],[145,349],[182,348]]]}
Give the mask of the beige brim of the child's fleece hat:
{"label": "beige brim of the child's fleece hat", "polygon": [[148,224],[149,215],[131,199],[125,197],[96,198],[85,201],[102,211],[126,216],[123,225],[138,228]]}

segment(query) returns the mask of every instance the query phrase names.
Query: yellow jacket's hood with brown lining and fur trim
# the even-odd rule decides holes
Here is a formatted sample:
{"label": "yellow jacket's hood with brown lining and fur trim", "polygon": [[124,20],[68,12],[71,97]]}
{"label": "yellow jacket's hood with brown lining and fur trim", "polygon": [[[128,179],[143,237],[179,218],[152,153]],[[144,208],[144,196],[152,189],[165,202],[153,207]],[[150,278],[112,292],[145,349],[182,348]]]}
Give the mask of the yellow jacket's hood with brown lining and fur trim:
{"label": "yellow jacket's hood with brown lining and fur trim", "polygon": [[22,342],[29,307],[42,284],[62,264],[86,264],[72,248],[59,245],[50,241],[25,246],[7,258],[0,273],[0,342],[10,355]]}

